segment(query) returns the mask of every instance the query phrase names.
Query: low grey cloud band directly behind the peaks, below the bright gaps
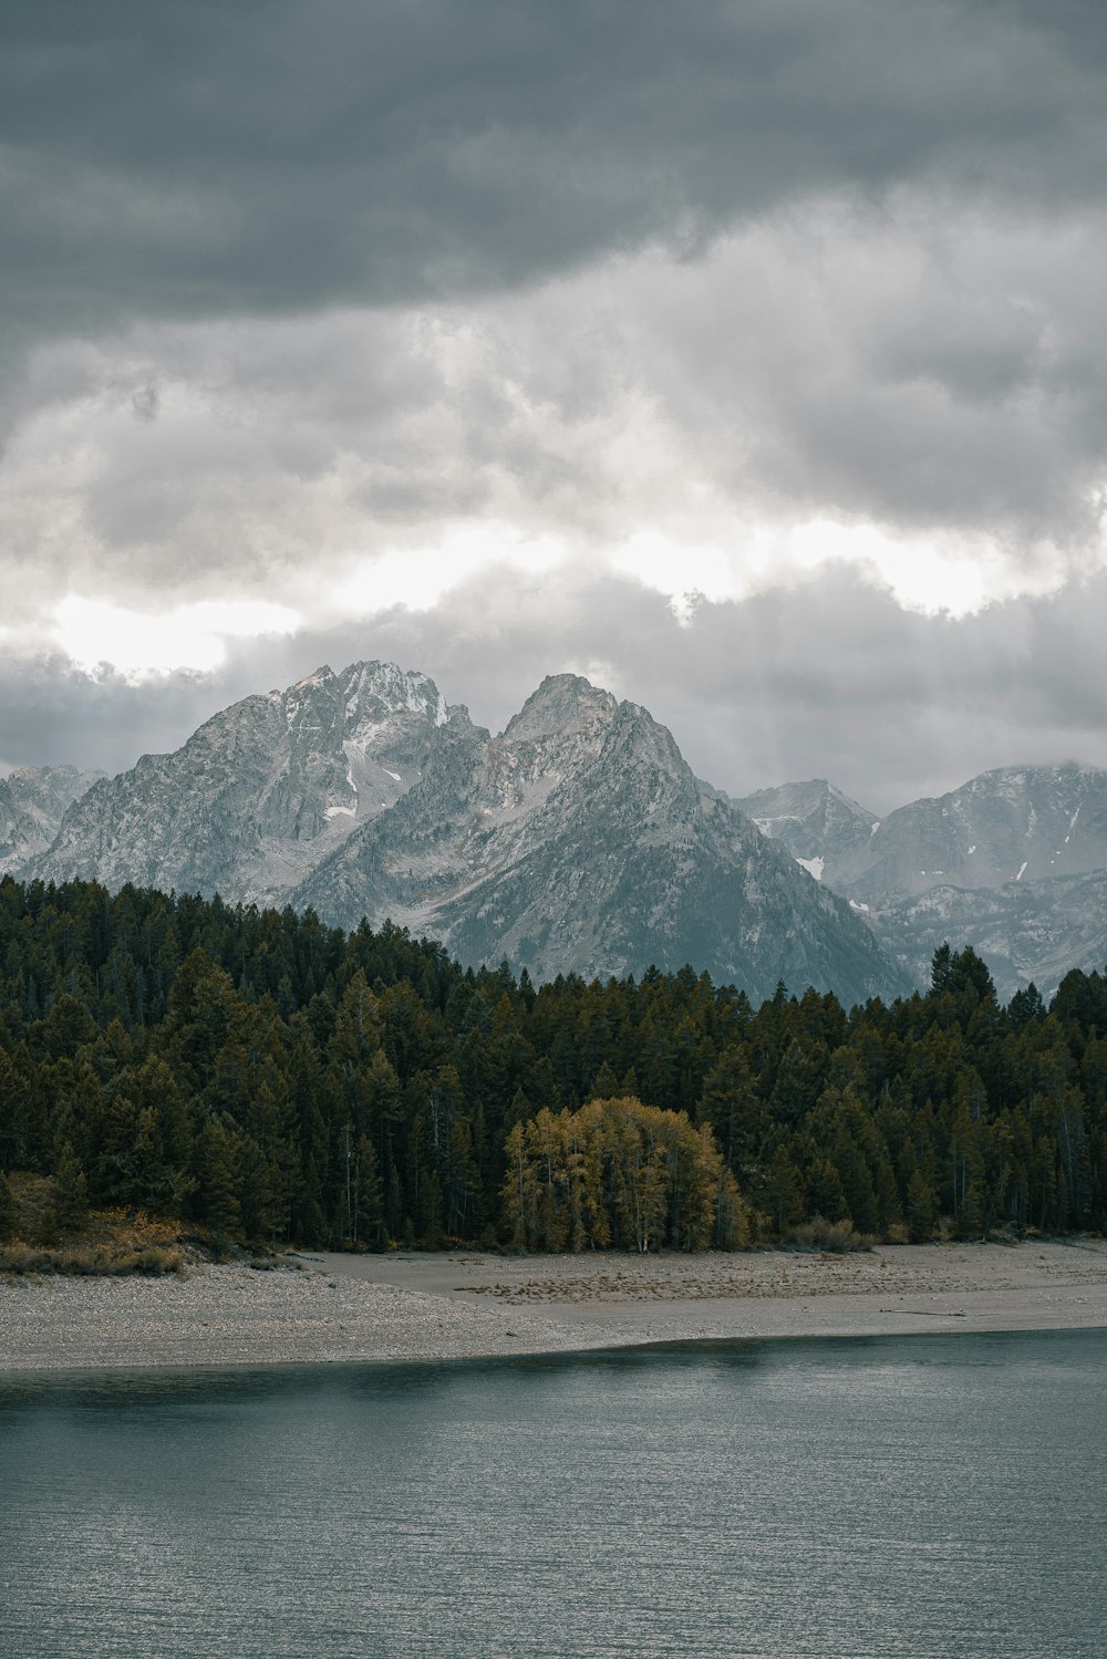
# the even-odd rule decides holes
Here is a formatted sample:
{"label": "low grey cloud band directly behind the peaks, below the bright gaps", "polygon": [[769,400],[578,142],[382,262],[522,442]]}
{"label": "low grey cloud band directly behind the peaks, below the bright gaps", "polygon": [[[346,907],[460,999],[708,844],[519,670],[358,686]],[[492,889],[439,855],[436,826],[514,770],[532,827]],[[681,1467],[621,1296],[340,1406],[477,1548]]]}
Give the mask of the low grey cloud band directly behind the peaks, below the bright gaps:
{"label": "low grey cloud band directly behind the peaks, below the bright gaps", "polygon": [[181,743],[217,708],[322,662],[397,660],[501,730],[544,674],[588,674],[644,703],[700,776],[732,795],[828,776],[873,811],[991,766],[1107,766],[1107,579],[961,622],[905,612],[841,572],[680,625],[632,581],[556,594],[500,571],[436,612],[236,647],[217,675],[133,687],[60,662],[0,679],[0,755],[108,770]]}

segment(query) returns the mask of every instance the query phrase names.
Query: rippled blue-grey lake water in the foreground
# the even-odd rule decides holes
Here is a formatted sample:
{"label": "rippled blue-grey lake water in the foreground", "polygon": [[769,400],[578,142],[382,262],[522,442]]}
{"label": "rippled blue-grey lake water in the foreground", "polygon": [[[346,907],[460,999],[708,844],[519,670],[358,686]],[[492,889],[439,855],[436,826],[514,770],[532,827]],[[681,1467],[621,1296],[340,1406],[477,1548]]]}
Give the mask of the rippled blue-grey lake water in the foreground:
{"label": "rippled blue-grey lake water in the foreground", "polygon": [[1107,1652],[1107,1332],[0,1380],[0,1651]]}

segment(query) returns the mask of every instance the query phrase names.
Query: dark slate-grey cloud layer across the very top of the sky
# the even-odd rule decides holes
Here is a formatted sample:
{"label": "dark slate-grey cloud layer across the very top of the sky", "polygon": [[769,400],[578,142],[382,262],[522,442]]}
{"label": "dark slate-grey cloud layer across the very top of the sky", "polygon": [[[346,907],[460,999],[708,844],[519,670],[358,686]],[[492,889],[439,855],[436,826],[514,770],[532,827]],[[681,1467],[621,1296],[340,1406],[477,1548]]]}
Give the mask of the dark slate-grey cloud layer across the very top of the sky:
{"label": "dark slate-grey cloud layer across the very top of the sky", "polygon": [[905,181],[1102,199],[1107,17],[1006,0],[8,0],[8,324],[393,304]]}

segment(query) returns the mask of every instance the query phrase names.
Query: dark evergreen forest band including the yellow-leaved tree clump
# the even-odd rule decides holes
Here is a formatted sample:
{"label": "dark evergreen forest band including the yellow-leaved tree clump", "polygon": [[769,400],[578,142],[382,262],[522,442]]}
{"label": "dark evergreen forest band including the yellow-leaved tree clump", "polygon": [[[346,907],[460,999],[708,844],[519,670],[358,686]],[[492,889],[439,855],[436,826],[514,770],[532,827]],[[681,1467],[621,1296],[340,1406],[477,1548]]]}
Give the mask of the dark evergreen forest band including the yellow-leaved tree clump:
{"label": "dark evergreen forest band including the yellow-leaved tree clump", "polygon": [[758,1009],[692,967],[536,987],[385,924],[0,881],[0,1238],[121,1208],[339,1249],[742,1248],[1107,1223],[1107,974]]}

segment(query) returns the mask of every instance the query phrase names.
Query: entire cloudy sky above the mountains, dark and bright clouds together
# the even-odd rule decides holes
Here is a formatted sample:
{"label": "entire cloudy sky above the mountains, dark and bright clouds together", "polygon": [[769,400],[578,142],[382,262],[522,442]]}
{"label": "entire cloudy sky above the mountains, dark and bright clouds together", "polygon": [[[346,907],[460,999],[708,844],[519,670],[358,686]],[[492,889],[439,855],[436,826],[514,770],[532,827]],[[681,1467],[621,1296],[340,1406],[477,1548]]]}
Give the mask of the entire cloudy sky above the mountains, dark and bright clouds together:
{"label": "entire cloudy sky above the mountains, dark and bright clouds together", "polygon": [[5,0],[0,770],[327,662],[1107,766],[1102,0]]}

